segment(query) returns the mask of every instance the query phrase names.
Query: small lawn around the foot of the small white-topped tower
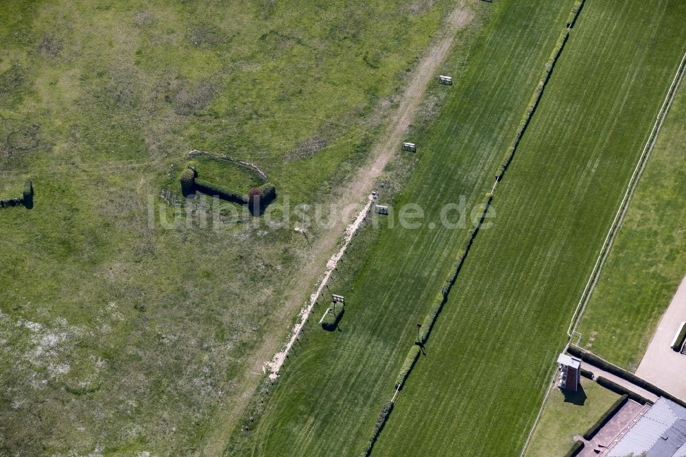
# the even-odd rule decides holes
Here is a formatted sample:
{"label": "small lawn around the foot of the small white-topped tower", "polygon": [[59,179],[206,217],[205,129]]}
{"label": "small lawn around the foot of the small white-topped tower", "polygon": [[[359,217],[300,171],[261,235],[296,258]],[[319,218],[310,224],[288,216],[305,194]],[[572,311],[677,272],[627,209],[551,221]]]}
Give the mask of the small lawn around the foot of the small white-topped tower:
{"label": "small lawn around the foot of the small white-topped tower", "polygon": [[574,443],[575,435],[583,435],[619,398],[611,390],[581,378],[583,392],[550,392],[539,424],[526,450],[526,457],[564,456]]}

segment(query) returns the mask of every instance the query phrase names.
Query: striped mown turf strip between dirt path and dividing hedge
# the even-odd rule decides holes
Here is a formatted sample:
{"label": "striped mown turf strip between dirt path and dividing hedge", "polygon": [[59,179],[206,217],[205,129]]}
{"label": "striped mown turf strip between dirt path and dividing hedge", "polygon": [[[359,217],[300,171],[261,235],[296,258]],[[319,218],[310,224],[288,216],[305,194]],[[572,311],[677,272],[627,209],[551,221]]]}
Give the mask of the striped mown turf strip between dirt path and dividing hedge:
{"label": "striped mown turf strip between dirt path and dividing hedge", "polygon": [[[464,75],[442,89],[451,91],[445,109],[416,140],[419,163],[393,202],[396,208],[420,204],[423,225],[382,227],[377,242],[351,253],[362,257],[359,267],[348,263],[356,270],[346,273],[352,279],[331,290],[346,296],[340,331],[318,329],[316,314],[281,379],[268,394],[259,392],[254,423],[246,419],[227,454],[357,455],[364,449],[381,404],[393,394],[416,323],[471,229],[444,229],[440,209],[464,196],[471,211],[490,190],[571,1],[481,2],[474,8],[488,25],[465,38],[470,47],[456,46],[453,65],[462,65],[464,53],[471,56]],[[386,198],[383,192],[380,198]],[[438,224],[431,229],[431,222]]]}

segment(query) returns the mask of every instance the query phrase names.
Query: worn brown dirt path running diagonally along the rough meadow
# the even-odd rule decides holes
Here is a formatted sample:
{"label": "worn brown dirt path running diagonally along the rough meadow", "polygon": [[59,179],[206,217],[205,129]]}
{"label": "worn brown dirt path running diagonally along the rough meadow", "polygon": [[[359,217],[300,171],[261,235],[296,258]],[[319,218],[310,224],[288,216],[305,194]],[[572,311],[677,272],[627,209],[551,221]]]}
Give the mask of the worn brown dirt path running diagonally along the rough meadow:
{"label": "worn brown dirt path running diagonally along the rough meadow", "polygon": [[[370,194],[388,161],[399,150],[399,144],[414,119],[429,82],[434,79],[438,66],[445,60],[451,49],[455,33],[469,25],[473,19],[473,13],[464,5],[468,1],[471,3],[477,0],[462,0],[460,2],[457,8],[447,16],[445,26],[439,32],[442,38],[436,40],[427,49],[425,56],[416,65],[412,73],[412,80],[407,84],[397,110],[388,119],[388,127],[372,149],[370,159],[359,168],[357,176],[340,193],[340,199],[334,202],[339,208],[356,206],[359,211],[366,203],[364,202],[365,197]],[[352,211],[350,214],[357,214],[358,211]],[[273,322],[289,322],[292,316],[298,312],[298,309],[303,307],[307,295],[311,292],[311,288],[317,282],[318,277],[325,271],[327,263],[331,260],[331,253],[340,243],[341,237],[350,222],[351,220],[337,218],[335,224],[332,224],[333,226],[316,240],[312,247],[311,259],[294,278],[294,283],[290,288],[291,293],[285,297],[283,306],[272,316]],[[305,310],[303,309],[303,311]],[[215,426],[209,430],[209,436],[202,443],[202,448],[199,449],[198,454],[202,456],[222,455],[230,433],[233,432],[243,416],[250,397],[255,392],[259,379],[263,375],[263,366],[266,363],[274,364],[274,360],[278,362],[278,354],[276,359],[273,360],[273,358],[274,354],[284,344],[281,335],[283,333],[279,333],[278,338],[265,336],[260,347],[252,354],[250,357],[252,366],[246,367],[243,377],[237,379],[236,382],[236,385],[240,386],[240,392],[233,392],[215,412],[212,419]],[[268,362],[270,360],[272,362]],[[270,365],[270,367],[274,367],[274,365]]]}

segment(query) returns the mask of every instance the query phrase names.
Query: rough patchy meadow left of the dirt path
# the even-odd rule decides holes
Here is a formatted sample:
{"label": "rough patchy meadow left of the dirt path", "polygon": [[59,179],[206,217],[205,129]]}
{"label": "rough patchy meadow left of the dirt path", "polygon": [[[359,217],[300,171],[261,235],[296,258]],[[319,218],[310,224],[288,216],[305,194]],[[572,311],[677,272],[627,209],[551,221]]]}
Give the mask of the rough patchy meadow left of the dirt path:
{"label": "rough patchy meadow left of the dirt path", "polygon": [[193,452],[311,253],[202,205],[150,224],[171,165],[328,202],[455,3],[3,1],[0,198],[36,196],[0,211],[0,454]]}

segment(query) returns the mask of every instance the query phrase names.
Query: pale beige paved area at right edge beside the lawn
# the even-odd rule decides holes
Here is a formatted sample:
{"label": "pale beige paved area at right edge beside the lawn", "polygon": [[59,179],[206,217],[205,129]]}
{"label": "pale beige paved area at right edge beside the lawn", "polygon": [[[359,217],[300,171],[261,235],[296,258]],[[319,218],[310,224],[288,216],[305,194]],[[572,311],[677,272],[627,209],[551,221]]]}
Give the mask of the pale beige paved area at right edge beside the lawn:
{"label": "pale beige paved area at right edge beside the lawn", "polygon": [[686,399],[686,355],[670,347],[682,322],[686,321],[686,277],[681,281],[670,307],[662,316],[636,375],[672,395]]}

